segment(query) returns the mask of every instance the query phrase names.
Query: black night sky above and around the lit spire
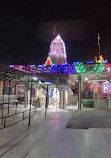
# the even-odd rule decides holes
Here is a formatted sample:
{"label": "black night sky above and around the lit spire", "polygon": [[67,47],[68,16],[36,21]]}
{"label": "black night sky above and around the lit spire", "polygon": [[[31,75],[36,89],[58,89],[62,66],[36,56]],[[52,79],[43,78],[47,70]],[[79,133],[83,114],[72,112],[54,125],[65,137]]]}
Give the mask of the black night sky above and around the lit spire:
{"label": "black night sky above and around the lit spire", "polygon": [[43,64],[54,24],[69,63],[94,60],[98,32],[101,54],[111,61],[110,0],[0,1],[0,61]]}

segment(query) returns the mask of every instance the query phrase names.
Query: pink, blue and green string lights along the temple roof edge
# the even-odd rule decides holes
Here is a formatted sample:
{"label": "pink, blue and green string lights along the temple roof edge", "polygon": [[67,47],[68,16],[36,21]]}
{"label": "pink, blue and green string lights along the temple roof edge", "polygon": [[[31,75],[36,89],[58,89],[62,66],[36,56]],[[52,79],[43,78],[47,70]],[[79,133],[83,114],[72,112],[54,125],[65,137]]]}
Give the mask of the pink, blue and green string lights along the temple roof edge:
{"label": "pink, blue and green string lights along the temple roof edge", "polygon": [[87,75],[89,77],[95,77],[100,76],[101,72],[104,70],[105,64],[95,64],[94,68],[90,71],[86,71],[86,68],[84,67],[82,62],[75,62],[73,64],[63,64],[63,65],[28,65],[28,66],[22,66],[22,65],[10,65],[9,67],[18,69],[20,71],[24,71],[26,73],[83,73],[85,74],[85,78]]}

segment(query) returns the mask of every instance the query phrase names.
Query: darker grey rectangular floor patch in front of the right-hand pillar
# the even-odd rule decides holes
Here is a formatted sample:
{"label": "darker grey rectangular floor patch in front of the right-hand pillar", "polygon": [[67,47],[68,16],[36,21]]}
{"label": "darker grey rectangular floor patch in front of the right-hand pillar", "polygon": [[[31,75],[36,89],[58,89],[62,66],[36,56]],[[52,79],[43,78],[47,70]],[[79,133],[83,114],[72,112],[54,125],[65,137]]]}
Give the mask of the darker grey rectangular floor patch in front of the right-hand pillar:
{"label": "darker grey rectangular floor patch in front of the right-hand pillar", "polygon": [[67,128],[111,128],[111,110],[93,108],[77,110],[69,120]]}

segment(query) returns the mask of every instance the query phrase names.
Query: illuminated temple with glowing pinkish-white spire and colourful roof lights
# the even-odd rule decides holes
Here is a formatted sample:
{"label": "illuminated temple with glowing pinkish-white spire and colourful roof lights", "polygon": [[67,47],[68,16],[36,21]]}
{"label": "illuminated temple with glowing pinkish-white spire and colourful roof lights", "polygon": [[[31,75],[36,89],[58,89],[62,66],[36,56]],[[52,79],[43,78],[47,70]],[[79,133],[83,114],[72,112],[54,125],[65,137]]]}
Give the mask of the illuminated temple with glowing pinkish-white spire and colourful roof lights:
{"label": "illuminated temple with glowing pinkish-white spire and colourful roof lights", "polygon": [[57,35],[51,41],[48,57],[42,65],[10,65],[1,73],[1,98],[7,97],[11,89],[9,97],[24,98],[26,107],[32,97],[34,101],[39,97],[40,105],[44,107],[46,94],[49,94],[50,105],[57,108],[74,105],[78,109],[111,109],[111,64],[100,55],[99,42],[98,46],[99,59],[96,57],[95,62],[69,64],[65,43]]}

